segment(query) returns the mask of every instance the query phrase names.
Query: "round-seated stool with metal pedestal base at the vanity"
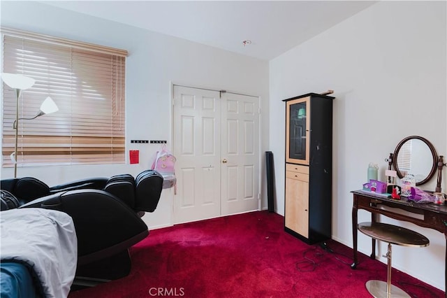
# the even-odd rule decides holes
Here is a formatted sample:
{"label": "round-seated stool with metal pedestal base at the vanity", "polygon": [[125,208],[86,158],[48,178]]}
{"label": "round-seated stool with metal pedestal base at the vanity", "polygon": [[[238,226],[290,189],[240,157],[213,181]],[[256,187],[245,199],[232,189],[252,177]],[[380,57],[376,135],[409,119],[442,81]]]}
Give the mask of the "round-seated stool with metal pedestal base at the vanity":
{"label": "round-seated stool with metal pedestal base at the vanity", "polygon": [[398,246],[425,247],[430,241],[424,235],[382,222],[361,222],[358,230],[374,239],[388,242],[388,252],[383,257],[388,259],[388,274],[386,283],[384,281],[367,281],[366,288],[374,297],[410,297],[404,290],[391,285],[391,244]]}

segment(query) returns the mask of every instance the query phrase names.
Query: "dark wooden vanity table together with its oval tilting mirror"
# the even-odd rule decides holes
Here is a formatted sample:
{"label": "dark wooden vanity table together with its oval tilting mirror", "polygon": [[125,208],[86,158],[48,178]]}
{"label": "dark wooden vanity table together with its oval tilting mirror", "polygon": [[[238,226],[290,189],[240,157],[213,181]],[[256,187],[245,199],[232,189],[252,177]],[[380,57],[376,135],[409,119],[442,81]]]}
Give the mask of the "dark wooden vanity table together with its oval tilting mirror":
{"label": "dark wooden vanity table together with its oval tilting mirror", "polygon": [[[416,154],[415,154],[416,153]],[[397,176],[404,177],[404,173],[414,173],[416,185],[427,183],[438,169],[436,192],[441,192],[441,176],[444,166],[442,156],[438,157],[434,146],[430,141],[421,136],[409,136],[397,144],[395,152],[390,153],[386,159],[391,169],[394,166]],[[390,183],[390,180],[388,180]],[[446,238],[446,257],[444,264],[444,279],[447,290],[447,205],[434,203],[416,203],[406,197],[390,199],[390,194],[379,194],[365,190],[354,190],[352,208],[352,232],[353,232],[353,264],[352,269],[358,265],[357,235],[358,235],[358,209],[371,212],[371,221],[377,222],[377,214],[385,215],[395,220],[412,222],[420,227],[435,229],[444,234]],[[406,212],[402,212],[406,211]],[[376,240],[372,239],[372,253],[370,257],[375,259]],[[446,295],[447,297],[447,295]]]}

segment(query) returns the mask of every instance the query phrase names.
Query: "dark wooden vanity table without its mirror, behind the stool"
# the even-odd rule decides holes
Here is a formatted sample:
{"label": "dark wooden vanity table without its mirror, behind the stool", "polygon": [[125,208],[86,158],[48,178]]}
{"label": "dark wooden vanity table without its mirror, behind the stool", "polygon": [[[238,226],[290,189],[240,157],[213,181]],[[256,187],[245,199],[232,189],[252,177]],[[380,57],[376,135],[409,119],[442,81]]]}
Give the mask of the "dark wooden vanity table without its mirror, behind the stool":
{"label": "dark wooden vanity table without its mirror, behind the stool", "polygon": [[[407,201],[402,197],[401,200],[388,199],[388,194],[376,194],[374,192],[367,192],[364,190],[354,190],[353,193],[353,207],[352,207],[352,234],[353,234],[353,254],[354,262],[351,268],[355,269],[358,264],[357,256],[357,225],[358,225],[358,209],[363,209],[371,212],[372,222],[376,222],[376,214],[386,215],[388,218],[395,220],[404,220],[412,222],[420,227],[428,227],[436,229],[444,234],[446,237],[447,247],[447,206],[438,204],[418,204],[412,201]],[[383,207],[388,208],[383,208]],[[414,215],[403,215],[397,213],[390,208],[399,208]],[[372,239],[372,253],[371,258],[376,256],[376,241]],[[444,264],[444,279],[447,289],[447,249],[446,249],[446,264]]]}

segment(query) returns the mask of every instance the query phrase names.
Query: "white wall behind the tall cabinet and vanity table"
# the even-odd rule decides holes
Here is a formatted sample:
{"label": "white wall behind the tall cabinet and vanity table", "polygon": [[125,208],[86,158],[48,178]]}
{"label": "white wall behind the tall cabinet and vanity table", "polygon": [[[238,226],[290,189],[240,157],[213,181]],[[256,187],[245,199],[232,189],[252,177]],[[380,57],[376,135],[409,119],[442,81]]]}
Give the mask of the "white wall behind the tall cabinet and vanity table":
{"label": "white wall behind the tall cabinet and vanity table", "polygon": [[[270,150],[276,157],[277,211],[284,214],[282,99],[335,90],[332,238],[352,247],[351,190],[381,167],[406,136],[424,136],[447,155],[446,2],[381,1],[270,61]],[[447,176],[444,169],[444,192]],[[436,177],[423,189],[434,190]],[[359,222],[369,221],[359,211]],[[396,222],[381,217],[383,222]],[[444,289],[444,235],[407,222],[430,239],[427,248],[393,247],[393,267]],[[359,234],[359,250],[370,254]],[[383,255],[386,246],[377,255]],[[382,262],[386,262],[381,257]],[[360,264],[361,266],[361,264]]]}

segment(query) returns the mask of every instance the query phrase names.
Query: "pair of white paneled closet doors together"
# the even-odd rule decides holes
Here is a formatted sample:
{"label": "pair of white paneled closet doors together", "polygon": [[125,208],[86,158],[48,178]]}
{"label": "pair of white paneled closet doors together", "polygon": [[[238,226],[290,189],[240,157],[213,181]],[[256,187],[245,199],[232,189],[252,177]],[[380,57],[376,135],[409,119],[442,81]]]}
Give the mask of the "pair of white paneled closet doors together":
{"label": "pair of white paneled closet doors together", "polygon": [[259,99],[174,86],[174,222],[259,209]]}

